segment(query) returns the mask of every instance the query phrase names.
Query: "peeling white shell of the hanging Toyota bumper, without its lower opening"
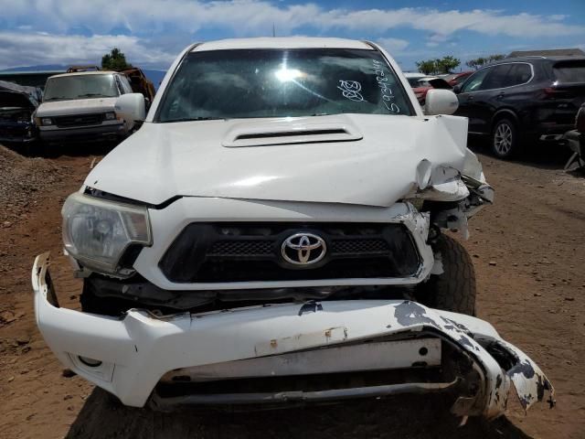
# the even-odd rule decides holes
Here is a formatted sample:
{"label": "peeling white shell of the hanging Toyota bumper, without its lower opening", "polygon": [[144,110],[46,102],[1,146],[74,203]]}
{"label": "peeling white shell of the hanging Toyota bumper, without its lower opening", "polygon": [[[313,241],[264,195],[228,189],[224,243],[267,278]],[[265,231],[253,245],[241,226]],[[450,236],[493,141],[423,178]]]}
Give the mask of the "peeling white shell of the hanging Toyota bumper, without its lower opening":
{"label": "peeling white shell of the hanging Toyota bumper, without its lower opening", "polygon": [[[502,415],[511,383],[525,409],[546,391],[554,404],[552,386],[534,361],[473,316],[409,300],[266,304],[162,317],[130,309],[122,318],[99,316],[58,306],[48,263],[48,253],[39,255],[32,271],[37,326],[48,347],[65,367],[127,405],[142,407],[170,370],[421,332],[465,353],[477,372],[472,382],[479,387],[457,399],[454,414]],[[79,356],[99,359],[101,366],[88,369]]]}

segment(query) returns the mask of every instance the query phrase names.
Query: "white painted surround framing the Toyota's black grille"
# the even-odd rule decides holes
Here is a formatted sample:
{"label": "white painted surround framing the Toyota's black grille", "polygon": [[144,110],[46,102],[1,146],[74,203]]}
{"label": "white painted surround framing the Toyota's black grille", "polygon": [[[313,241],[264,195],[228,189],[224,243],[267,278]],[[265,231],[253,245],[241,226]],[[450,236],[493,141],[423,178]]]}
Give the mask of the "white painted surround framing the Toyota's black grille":
{"label": "white painted surround framing the Toyota's black grille", "polygon": [[[237,148],[246,149],[246,148]],[[261,182],[258,192],[267,192],[275,180]],[[248,186],[242,187],[244,189]],[[307,189],[308,190],[308,189]],[[188,197],[176,200],[165,209],[150,209],[153,245],[145,247],[134,262],[134,269],[146,280],[165,290],[238,290],[327,285],[389,285],[418,284],[431,273],[433,255],[427,244],[429,216],[410,204],[396,203],[389,208],[350,206],[334,203],[301,203],[229,198]],[[419,272],[407,278],[345,278],[300,281],[173,283],[158,266],[166,249],[177,235],[192,222],[382,222],[403,223],[412,233],[421,263]]]}

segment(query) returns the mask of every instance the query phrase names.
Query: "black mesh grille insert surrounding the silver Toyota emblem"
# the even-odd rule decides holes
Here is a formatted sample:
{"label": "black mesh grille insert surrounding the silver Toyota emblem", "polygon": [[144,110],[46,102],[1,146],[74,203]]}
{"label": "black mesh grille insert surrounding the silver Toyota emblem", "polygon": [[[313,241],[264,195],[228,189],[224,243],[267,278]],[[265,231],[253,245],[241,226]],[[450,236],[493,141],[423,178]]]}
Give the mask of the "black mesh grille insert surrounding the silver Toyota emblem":
{"label": "black mesh grille insert surrounding the silver Toyota emblem", "polygon": [[[324,240],[323,260],[302,267],[284,260],[282,242],[301,232]],[[159,267],[176,283],[387,278],[416,274],[420,256],[403,224],[192,223]]]}

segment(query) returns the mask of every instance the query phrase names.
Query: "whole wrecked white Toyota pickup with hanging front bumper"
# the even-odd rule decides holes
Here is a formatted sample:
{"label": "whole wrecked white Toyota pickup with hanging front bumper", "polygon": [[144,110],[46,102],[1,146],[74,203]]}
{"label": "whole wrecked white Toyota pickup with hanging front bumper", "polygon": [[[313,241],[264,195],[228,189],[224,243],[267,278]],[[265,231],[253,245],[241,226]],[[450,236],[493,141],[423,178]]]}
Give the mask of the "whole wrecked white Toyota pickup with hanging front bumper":
{"label": "whole wrecked white Toyota pickup with hanging front bumper", "polygon": [[[375,44],[271,37],[189,46],[159,93],[62,209],[80,311],[48,253],[33,267],[66,367],[138,407],[449,391],[494,418],[512,384],[553,403],[471,316],[471,258],[441,233],[493,199],[452,91],[423,112]],[[116,109],[142,119],[144,97]]]}

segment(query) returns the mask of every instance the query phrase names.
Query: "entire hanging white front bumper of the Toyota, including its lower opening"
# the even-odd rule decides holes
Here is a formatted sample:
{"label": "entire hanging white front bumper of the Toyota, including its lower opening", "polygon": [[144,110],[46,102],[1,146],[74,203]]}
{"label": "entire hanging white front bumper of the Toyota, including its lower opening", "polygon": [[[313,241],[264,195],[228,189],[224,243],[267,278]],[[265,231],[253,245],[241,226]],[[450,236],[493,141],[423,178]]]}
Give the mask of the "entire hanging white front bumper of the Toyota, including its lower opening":
{"label": "entire hanging white front bumper of the Toyota, including its lower opening", "polygon": [[32,273],[49,348],[124,404],[282,404],[441,391],[491,419],[511,384],[527,410],[553,389],[537,365],[471,317],[404,300],[262,305],[122,318],[60,308],[48,253]]}

